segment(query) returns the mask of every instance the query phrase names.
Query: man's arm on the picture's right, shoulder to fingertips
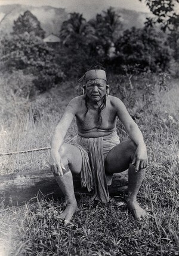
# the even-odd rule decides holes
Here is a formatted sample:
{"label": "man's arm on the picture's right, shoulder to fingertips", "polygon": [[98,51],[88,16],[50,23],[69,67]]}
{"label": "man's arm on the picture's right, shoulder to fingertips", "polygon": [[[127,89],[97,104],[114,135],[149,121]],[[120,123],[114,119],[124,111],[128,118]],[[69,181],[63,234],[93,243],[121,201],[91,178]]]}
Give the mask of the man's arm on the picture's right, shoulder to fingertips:
{"label": "man's arm on the picture's right, shoulder to fingertips", "polygon": [[115,98],[115,106],[118,118],[121,120],[122,124],[124,124],[131,140],[137,145],[137,150],[131,164],[135,164],[136,171],[146,168],[148,163],[147,148],[146,144],[144,143],[143,135],[138,128],[138,125],[134,122],[126,110],[124,103],[122,103],[122,101],[118,98]]}

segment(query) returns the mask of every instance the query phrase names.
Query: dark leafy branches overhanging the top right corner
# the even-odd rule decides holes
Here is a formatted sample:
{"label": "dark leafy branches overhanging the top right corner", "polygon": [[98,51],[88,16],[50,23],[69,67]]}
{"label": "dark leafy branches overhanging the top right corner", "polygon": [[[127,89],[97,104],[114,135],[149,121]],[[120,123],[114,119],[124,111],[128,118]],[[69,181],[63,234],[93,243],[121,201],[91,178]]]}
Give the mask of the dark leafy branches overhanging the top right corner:
{"label": "dark leafy branches overhanging the top right corner", "polygon": [[139,0],[146,2],[150,11],[156,16],[156,22],[161,23],[163,31],[175,29],[179,25],[179,15],[176,12],[176,5],[179,0]]}

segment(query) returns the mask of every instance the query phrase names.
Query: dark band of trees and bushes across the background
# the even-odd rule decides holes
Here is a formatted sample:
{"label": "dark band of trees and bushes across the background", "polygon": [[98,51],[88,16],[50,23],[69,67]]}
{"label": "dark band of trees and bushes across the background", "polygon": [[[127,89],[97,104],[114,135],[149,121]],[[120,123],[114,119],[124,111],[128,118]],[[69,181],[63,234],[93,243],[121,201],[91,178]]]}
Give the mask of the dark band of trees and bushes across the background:
{"label": "dark band of trees and bushes across the background", "polygon": [[26,11],[14,21],[13,33],[1,41],[1,68],[34,74],[33,84],[40,92],[64,79],[80,77],[98,62],[116,74],[126,70],[169,73],[179,62],[178,26],[174,24],[170,30],[161,29],[147,19],[143,28],[124,31],[113,8],[88,21],[82,14],[70,13],[59,31],[61,43],[53,48],[44,43],[38,19]]}

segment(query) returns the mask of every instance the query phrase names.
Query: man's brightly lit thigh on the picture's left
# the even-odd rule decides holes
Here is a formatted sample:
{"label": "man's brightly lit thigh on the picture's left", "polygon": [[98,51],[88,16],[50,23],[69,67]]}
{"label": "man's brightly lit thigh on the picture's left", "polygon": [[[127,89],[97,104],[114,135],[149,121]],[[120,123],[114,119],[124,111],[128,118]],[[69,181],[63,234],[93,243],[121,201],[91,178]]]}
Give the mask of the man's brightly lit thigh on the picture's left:
{"label": "man's brightly lit thigh on the picture's left", "polygon": [[64,143],[60,148],[60,156],[64,165],[69,164],[72,173],[81,172],[82,156],[78,147]]}

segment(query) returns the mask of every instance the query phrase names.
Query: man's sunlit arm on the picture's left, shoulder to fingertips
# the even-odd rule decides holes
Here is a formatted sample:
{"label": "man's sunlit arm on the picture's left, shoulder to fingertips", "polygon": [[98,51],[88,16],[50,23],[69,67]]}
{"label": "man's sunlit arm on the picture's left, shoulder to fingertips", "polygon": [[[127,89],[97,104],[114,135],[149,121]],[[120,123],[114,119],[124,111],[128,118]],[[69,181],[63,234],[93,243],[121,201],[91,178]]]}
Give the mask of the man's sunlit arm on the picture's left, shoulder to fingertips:
{"label": "man's sunlit arm on the picture's left, shoulder to fingertips", "polygon": [[57,127],[55,128],[55,132],[52,138],[52,144],[51,144],[51,155],[50,155],[50,165],[53,170],[53,173],[58,174],[60,176],[63,176],[63,170],[64,165],[61,161],[61,156],[59,154],[59,149],[64,141],[64,136],[66,135],[66,132],[68,128],[70,127],[70,124],[73,120],[73,118],[76,115],[76,98],[74,98],[68,106],[66,107],[66,110],[58,123]]}

